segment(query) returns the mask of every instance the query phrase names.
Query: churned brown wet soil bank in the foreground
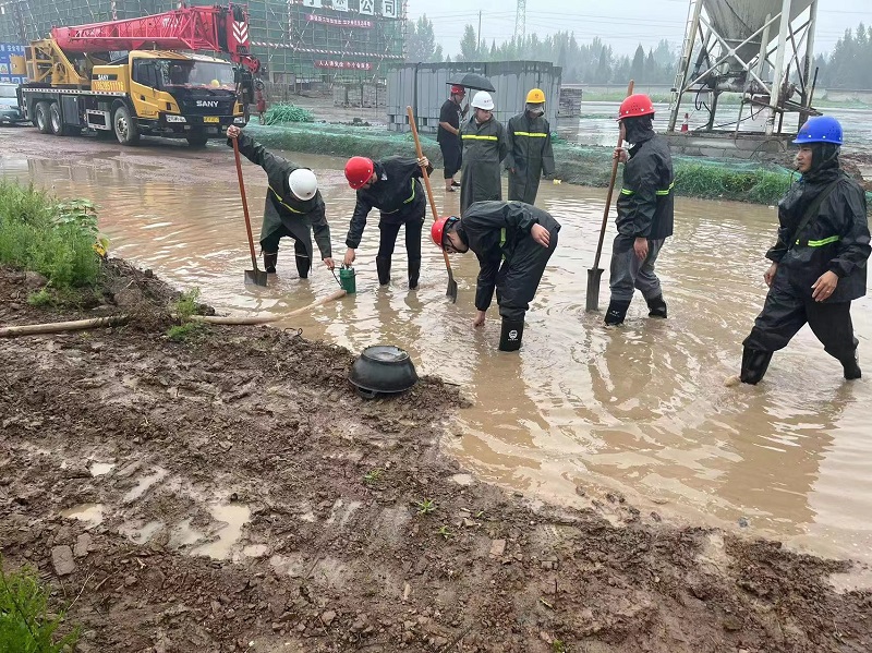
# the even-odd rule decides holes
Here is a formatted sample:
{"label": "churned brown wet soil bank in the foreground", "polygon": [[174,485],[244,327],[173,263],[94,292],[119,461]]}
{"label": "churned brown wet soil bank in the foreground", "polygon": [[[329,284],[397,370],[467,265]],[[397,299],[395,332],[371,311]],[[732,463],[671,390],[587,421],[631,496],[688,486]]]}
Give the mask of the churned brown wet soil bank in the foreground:
{"label": "churned brown wet soil bank in the foreground", "polygon": [[[507,494],[440,452],[458,388],[367,401],[351,352],[296,331],[172,342],[172,290],[113,265],[157,318],[0,341],[0,553],[38,568],[78,651],[872,648],[872,594],[831,585],[849,563],[617,495],[607,520]],[[0,322],[61,317],[26,293],[0,273]]]}

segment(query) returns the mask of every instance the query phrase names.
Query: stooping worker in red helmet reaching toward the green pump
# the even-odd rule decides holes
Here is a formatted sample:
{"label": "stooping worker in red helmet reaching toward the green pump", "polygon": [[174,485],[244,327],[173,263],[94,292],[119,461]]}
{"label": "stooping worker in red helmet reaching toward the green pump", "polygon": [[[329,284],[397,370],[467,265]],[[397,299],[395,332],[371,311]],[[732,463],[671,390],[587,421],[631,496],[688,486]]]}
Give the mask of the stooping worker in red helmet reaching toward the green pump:
{"label": "stooping worker in red helmet reaching toward the green pump", "polygon": [[421,274],[421,229],[427,213],[427,201],[421,185],[421,167],[433,171],[427,157],[387,157],[374,161],[366,157],[351,157],[346,164],[348,184],[358,191],[358,202],[351,216],[346,237],[344,263],[354,262],[354,250],[361,244],[366,216],[373,208],[379,209],[380,238],[375,266],[378,282],[386,286],[390,281],[390,261],[400,227],[405,227],[405,253],[409,259],[409,289],[417,288]]}

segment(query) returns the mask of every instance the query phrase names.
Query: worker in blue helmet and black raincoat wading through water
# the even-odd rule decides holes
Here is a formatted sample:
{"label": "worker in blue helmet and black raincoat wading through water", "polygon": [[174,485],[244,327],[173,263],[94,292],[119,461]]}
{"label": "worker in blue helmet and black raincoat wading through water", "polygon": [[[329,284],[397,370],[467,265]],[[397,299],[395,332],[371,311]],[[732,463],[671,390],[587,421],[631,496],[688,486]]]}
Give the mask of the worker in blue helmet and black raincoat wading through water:
{"label": "worker in blue helmet and black raincoat wading through water", "polygon": [[860,378],[851,301],[865,294],[870,252],[865,194],[839,168],[841,125],[811,118],[796,141],[802,177],[778,203],[778,240],[766,253],[770,287],[762,313],[742,343],[740,380],[754,385],[774,351],[808,323],[845,378]]}

